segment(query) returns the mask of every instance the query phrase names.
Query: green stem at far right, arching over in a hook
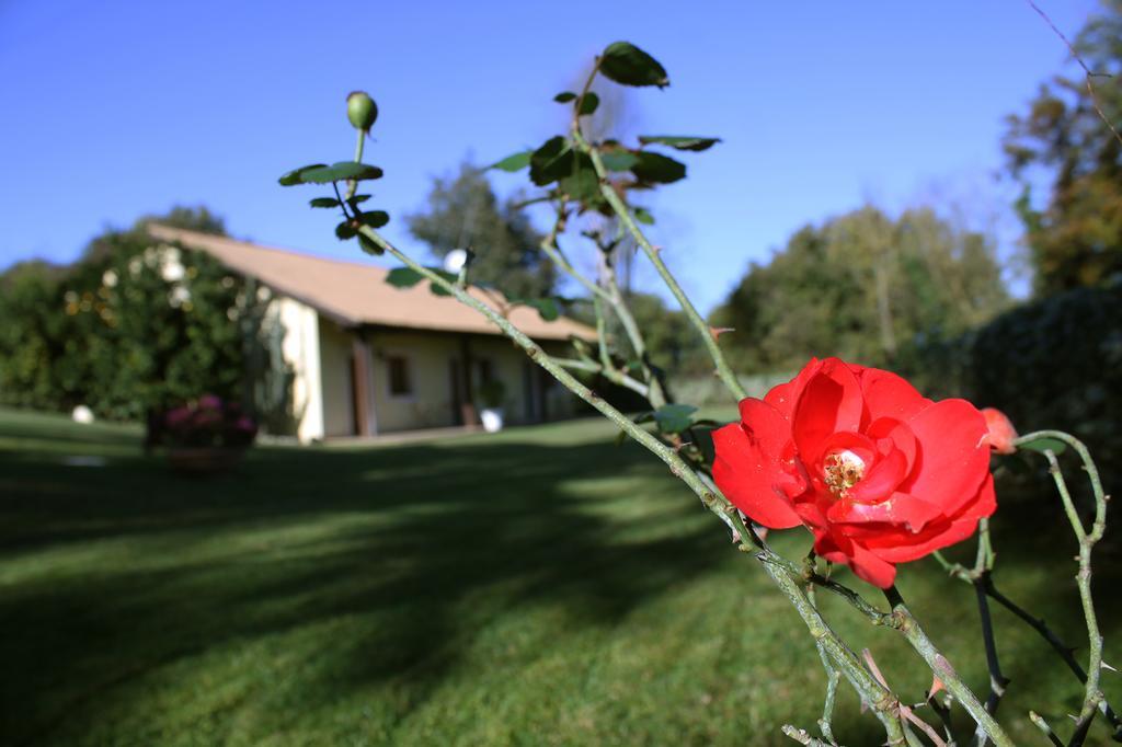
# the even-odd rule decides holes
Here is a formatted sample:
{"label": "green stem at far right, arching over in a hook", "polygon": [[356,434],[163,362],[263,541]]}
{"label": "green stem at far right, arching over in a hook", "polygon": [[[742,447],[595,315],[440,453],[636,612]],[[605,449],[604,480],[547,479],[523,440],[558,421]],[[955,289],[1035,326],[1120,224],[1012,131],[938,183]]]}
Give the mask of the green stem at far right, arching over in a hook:
{"label": "green stem at far right, arching over in a hook", "polygon": [[1056,454],[1050,449],[1045,450],[1045,459],[1048,460],[1048,471],[1056,482],[1060,500],[1064,502],[1064,511],[1067,514],[1072,529],[1079,542],[1079,571],[1075,575],[1076,585],[1079,588],[1079,599],[1083,603],[1083,616],[1087,621],[1087,679],[1083,695],[1083,708],[1075,721],[1075,731],[1068,743],[1072,747],[1078,747],[1086,739],[1087,730],[1095,718],[1095,710],[1101,708],[1104,701],[1103,692],[1098,688],[1098,679],[1102,674],[1103,664],[1103,636],[1098,631],[1098,618],[1095,615],[1095,603],[1091,594],[1091,551],[1098,542],[1106,529],[1106,501],[1107,497],[1103,492],[1103,483],[1098,478],[1098,470],[1091,453],[1082,441],[1063,431],[1037,431],[1029,433],[1013,442],[1013,445],[1037,441],[1040,439],[1056,439],[1072,446],[1083,460],[1083,469],[1087,472],[1091,481],[1091,490],[1095,498],[1095,518],[1091,525],[1091,532],[1083,526],[1083,520],[1072,500],[1072,494],[1067,489],[1064,473],[1060,471]]}

